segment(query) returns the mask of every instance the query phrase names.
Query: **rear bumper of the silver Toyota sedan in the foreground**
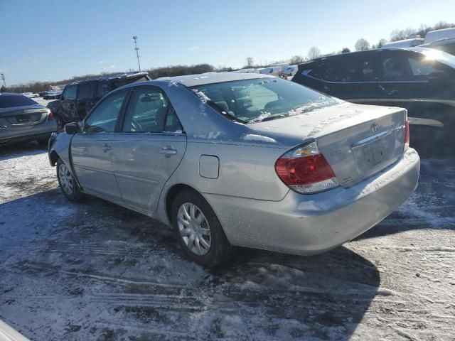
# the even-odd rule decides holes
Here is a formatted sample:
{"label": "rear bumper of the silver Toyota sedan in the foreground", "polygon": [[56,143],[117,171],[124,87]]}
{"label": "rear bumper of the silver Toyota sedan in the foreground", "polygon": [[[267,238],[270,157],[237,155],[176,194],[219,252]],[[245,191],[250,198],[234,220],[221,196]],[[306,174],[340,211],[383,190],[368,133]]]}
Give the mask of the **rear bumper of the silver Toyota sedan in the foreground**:
{"label": "rear bumper of the silver Toyota sedan in the foreground", "polygon": [[414,149],[392,166],[350,188],[314,195],[293,191],[279,202],[203,194],[231,244],[317,254],[357,237],[407,200],[417,186]]}

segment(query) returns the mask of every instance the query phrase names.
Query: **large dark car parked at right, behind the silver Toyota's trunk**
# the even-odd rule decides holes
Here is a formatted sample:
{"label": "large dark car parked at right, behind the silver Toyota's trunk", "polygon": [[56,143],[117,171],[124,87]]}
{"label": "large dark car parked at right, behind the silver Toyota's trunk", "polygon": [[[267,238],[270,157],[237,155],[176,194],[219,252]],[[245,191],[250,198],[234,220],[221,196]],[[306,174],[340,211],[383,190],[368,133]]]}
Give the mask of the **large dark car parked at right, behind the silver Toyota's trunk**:
{"label": "large dark car parked at right, behind the silver Toyota's trunk", "polygon": [[292,81],[349,102],[404,107],[419,152],[451,150],[453,55],[419,47],[343,53],[299,65]]}

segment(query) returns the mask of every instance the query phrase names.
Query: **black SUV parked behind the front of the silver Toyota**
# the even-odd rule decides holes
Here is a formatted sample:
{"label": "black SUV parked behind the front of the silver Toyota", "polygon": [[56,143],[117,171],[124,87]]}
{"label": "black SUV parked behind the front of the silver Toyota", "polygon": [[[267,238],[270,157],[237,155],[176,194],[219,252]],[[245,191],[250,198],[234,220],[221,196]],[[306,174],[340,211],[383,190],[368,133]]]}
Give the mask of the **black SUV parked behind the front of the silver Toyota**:
{"label": "black SUV parked behind the front of the silver Toyota", "polygon": [[65,124],[83,119],[90,109],[111,90],[143,80],[150,80],[147,72],[73,82],[65,87],[60,99],[48,103],[48,108],[58,120],[60,131]]}

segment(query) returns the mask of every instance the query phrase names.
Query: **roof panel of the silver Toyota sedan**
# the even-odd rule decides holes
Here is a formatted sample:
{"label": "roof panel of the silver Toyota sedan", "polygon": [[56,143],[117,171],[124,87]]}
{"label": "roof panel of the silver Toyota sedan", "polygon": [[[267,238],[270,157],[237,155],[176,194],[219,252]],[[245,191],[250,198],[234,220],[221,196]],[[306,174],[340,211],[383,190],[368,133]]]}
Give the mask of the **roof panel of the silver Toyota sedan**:
{"label": "roof panel of the silver Toyota sedan", "polygon": [[186,75],[175,77],[161,77],[156,80],[168,80],[176,82],[186,87],[196,87],[198,85],[230,82],[234,80],[253,80],[255,78],[269,78],[273,76],[262,75],[260,73],[246,73],[246,72],[209,72],[201,73],[199,75]]}

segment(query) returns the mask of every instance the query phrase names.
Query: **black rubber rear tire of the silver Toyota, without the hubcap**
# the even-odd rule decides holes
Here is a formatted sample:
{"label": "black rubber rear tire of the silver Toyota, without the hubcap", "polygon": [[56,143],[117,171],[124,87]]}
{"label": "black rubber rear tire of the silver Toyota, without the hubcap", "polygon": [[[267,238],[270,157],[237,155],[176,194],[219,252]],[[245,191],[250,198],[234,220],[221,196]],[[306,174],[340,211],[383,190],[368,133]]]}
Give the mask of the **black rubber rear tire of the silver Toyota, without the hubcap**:
{"label": "black rubber rear tire of the silver Toyota, without the hubcap", "polygon": [[[191,251],[181,234],[181,229],[178,224],[178,212],[183,204],[196,205],[196,209],[205,216],[205,220],[208,223],[208,229],[210,229],[210,248],[208,248],[206,254],[200,255]],[[226,238],[223,227],[221,227],[220,221],[218,220],[218,217],[216,217],[215,212],[213,212],[212,207],[210,207],[202,195],[196,191],[183,190],[176,195],[171,206],[171,220],[178,242],[181,244],[183,251],[186,256],[193,261],[196,261],[196,263],[206,268],[212,268],[213,266],[220,265],[230,259],[233,248]],[[204,226],[207,227],[206,224]]]}

